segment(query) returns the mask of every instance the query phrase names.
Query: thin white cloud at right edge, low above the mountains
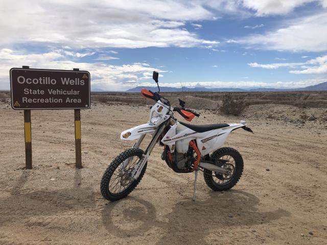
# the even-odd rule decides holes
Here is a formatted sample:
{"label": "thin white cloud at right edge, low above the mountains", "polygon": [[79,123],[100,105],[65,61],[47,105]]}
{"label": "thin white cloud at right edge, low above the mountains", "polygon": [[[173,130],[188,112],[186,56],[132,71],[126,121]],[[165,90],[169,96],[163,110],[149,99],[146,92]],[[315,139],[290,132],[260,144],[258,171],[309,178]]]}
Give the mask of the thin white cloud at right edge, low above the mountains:
{"label": "thin white cloud at right edge, low above the mountains", "polygon": [[306,62],[297,63],[272,63],[272,64],[258,64],[256,62],[248,63],[251,67],[260,67],[264,69],[277,69],[280,67],[301,67],[302,70],[290,70],[291,74],[325,74],[327,73],[327,55],[320,56]]}

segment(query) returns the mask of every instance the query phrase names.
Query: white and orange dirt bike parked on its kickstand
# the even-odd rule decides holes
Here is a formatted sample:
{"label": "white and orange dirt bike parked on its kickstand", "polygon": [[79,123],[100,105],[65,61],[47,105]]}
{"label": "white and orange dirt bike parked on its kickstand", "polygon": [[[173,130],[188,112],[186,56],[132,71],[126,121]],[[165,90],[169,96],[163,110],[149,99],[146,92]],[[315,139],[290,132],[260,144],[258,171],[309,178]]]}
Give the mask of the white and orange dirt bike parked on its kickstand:
{"label": "white and orange dirt bike parked on its kickstand", "polygon": [[[251,133],[246,122],[239,124],[191,125],[178,121],[174,112],[187,121],[200,114],[185,108],[171,106],[161,96],[158,72],[153,72],[158,92],[142,89],[142,96],[155,101],[151,107],[149,121],[121,133],[122,140],[137,140],[131,149],[118,155],[105,170],[101,180],[101,193],[109,201],[125,198],[141,181],[147,162],[155,144],[163,146],[161,159],[176,173],[195,172],[193,200],[196,195],[198,171],[203,171],[205,183],[214,191],[228,190],[239,181],[243,172],[243,158],[232,148],[220,148],[230,132],[242,128]],[[139,149],[146,134],[152,139],[145,151]]]}

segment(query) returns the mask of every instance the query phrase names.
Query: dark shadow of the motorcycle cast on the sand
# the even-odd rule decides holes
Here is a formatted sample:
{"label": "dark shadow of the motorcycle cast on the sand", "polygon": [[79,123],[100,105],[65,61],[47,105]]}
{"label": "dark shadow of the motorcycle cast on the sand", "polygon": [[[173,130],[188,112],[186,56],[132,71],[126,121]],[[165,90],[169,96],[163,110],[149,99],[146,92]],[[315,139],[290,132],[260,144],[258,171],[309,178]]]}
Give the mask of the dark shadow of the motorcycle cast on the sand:
{"label": "dark shadow of the motorcycle cast on the sand", "polygon": [[172,212],[161,216],[150,202],[128,197],[106,205],[103,224],[110,234],[118,237],[151,235],[155,229],[159,232],[156,235],[162,235],[156,244],[205,244],[204,238],[211,232],[217,233],[221,229],[224,233],[228,227],[243,226],[249,230],[248,226],[290,215],[280,208],[261,211],[259,205],[259,198],[245,191],[212,191],[207,200],[180,201]]}

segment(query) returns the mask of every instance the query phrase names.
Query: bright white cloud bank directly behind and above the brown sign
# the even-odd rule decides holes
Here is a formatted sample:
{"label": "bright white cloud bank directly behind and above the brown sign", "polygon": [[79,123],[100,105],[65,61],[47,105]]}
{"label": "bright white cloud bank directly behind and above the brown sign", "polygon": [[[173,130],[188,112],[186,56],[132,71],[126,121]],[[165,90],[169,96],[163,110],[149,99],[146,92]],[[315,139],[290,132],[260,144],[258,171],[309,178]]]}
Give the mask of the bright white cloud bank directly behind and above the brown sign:
{"label": "bright white cloud bank directly behind and above the brown sign", "polygon": [[[22,65],[29,65],[31,68],[66,70],[80,68],[81,70],[88,70],[91,74],[91,86],[101,87],[106,90],[125,90],[136,86],[144,77],[150,77],[145,75],[151,74],[152,78],[153,70],[159,70],[161,73],[165,72],[156,67],[151,67],[147,63],[107,65],[102,62],[74,62],[70,58],[70,56],[65,56],[60,51],[43,54],[26,54],[24,52],[10,50],[9,48],[3,48],[0,50],[0,88],[9,89],[9,69],[12,67],[21,67]],[[162,76],[160,74],[160,77]],[[131,81],[135,81],[135,83]]]}

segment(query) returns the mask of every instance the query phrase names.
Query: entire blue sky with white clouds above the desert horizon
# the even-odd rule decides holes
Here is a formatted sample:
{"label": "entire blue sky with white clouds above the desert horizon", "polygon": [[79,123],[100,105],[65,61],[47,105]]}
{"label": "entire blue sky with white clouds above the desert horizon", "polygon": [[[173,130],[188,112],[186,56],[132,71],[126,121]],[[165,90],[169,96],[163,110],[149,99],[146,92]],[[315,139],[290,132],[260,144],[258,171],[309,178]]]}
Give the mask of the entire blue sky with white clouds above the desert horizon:
{"label": "entire blue sky with white clouds above the desert horizon", "polygon": [[326,82],[327,0],[0,1],[9,70],[88,70],[91,89],[295,88]]}

